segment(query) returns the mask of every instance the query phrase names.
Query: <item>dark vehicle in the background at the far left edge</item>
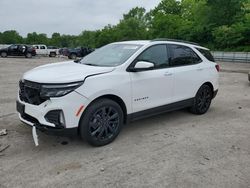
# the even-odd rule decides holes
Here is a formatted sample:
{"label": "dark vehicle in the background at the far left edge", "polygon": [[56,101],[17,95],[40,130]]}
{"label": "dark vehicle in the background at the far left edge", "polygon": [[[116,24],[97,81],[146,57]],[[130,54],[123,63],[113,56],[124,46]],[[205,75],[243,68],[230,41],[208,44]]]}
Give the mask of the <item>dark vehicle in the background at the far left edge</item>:
{"label": "dark vehicle in the background at the far left edge", "polygon": [[36,55],[36,50],[24,44],[12,44],[7,48],[0,49],[0,55],[1,57],[25,56],[26,58],[31,58]]}

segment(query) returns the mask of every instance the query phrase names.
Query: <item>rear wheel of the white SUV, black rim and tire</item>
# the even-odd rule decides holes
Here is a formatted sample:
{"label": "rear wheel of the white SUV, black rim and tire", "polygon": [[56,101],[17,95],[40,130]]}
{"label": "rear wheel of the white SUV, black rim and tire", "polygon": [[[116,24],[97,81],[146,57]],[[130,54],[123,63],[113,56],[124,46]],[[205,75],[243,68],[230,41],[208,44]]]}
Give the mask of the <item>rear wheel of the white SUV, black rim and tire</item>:
{"label": "rear wheel of the white SUV, black rim and tire", "polygon": [[195,96],[194,104],[190,111],[193,114],[205,114],[211,105],[212,99],[212,89],[208,85],[202,85]]}

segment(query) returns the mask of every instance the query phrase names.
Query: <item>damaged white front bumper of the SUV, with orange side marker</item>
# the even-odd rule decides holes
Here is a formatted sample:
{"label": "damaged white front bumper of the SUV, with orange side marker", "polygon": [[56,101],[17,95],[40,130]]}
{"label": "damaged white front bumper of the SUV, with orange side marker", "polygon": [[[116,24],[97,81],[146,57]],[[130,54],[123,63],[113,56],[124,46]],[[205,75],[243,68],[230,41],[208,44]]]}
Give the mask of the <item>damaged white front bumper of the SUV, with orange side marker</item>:
{"label": "damaged white front bumper of the SUV, with orange side marker", "polygon": [[[40,105],[25,103],[19,97],[17,99],[17,111],[23,123],[35,126],[46,134],[62,136],[77,134],[81,114],[87,105],[88,99],[77,92],[71,92],[64,97],[51,98]],[[79,108],[82,109],[80,112]],[[65,126],[58,127],[45,118],[46,114],[53,110],[63,111]]]}

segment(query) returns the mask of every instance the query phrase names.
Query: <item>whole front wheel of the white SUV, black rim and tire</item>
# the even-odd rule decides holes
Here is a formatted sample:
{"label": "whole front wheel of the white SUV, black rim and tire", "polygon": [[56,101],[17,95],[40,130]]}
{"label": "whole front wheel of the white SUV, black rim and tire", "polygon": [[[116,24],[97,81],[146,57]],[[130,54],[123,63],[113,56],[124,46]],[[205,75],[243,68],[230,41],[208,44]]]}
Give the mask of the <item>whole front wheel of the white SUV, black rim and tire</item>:
{"label": "whole front wheel of the white SUV, black rim and tire", "polygon": [[110,99],[100,99],[91,104],[80,122],[80,136],[92,146],[104,146],[120,133],[124,115],[121,107]]}

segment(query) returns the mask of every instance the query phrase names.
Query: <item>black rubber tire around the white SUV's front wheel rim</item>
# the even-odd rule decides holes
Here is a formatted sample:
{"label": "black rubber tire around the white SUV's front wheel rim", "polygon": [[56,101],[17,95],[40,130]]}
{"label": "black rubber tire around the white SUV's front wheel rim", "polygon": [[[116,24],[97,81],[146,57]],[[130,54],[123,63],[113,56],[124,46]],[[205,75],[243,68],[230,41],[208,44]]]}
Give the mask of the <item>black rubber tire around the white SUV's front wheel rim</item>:
{"label": "black rubber tire around the white SUV's front wheel rim", "polygon": [[[119,126],[117,128],[116,133],[110,139],[107,139],[105,141],[99,141],[97,139],[94,139],[90,135],[89,122],[90,122],[93,114],[95,114],[95,112],[98,109],[100,109],[104,106],[111,106],[111,107],[116,109],[116,111],[118,112],[118,115],[119,115]],[[107,144],[113,142],[115,140],[115,138],[119,135],[119,133],[123,127],[123,122],[124,122],[124,115],[123,115],[123,111],[122,111],[121,107],[119,106],[119,104],[117,104],[116,102],[114,102],[110,99],[99,99],[99,100],[95,101],[93,104],[90,104],[90,106],[87,107],[87,109],[83,113],[81,120],[80,120],[80,124],[79,124],[79,133],[80,133],[81,138],[83,140],[87,141],[89,144],[91,144],[93,146],[104,146],[104,145],[107,145]]]}

